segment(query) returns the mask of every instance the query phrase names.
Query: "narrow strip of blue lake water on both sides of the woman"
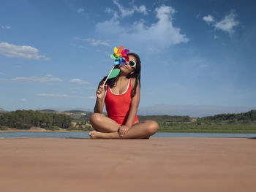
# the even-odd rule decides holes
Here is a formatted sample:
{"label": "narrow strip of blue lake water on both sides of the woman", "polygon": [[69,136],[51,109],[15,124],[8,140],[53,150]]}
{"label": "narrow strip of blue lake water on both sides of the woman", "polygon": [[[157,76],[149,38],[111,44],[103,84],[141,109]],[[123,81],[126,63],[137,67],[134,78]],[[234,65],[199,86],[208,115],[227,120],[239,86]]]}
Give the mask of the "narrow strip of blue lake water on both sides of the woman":
{"label": "narrow strip of blue lake water on both sides of the woman", "polygon": [[[7,138],[90,138],[88,132],[5,132],[0,133],[0,139]],[[256,138],[256,134],[215,134],[215,133],[156,133],[153,137],[240,137]]]}

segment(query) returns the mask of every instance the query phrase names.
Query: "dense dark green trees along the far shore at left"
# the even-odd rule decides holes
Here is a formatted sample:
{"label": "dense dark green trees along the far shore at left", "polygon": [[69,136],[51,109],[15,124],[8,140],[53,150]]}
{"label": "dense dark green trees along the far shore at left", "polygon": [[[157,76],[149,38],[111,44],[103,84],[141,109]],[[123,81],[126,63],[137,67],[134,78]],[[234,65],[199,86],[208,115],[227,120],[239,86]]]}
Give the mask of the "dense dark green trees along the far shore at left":
{"label": "dense dark green trees along the far shore at left", "polygon": [[16,110],[0,115],[0,126],[10,128],[29,129],[31,126],[42,128],[69,128],[71,126],[69,115],[53,112],[40,112],[33,110]]}

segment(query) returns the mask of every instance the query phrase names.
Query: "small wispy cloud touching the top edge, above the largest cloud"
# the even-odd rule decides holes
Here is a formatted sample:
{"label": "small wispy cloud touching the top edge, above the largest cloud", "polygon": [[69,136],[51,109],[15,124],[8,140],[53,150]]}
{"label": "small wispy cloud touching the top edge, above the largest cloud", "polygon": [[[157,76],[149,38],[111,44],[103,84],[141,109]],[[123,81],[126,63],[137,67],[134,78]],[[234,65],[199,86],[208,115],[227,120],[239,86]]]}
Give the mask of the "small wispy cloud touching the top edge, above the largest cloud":
{"label": "small wispy cloud touching the top edge, above the largest cloud", "polygon": [[[131,9],[127,9],[127,8],[121,6],[121,4],[118,3],[118,0],[113,0],[113,4],[116,4],[116,6],[118,7],[119,11],[121,12],[122,18],[132,15],[135,12],[140,12],[140,13],[143,13],[144,15],[148,14],[145,5],[141,5],[140,7],[133,5]],[[107,9],[107,10],[111,11],[111,9]]]}

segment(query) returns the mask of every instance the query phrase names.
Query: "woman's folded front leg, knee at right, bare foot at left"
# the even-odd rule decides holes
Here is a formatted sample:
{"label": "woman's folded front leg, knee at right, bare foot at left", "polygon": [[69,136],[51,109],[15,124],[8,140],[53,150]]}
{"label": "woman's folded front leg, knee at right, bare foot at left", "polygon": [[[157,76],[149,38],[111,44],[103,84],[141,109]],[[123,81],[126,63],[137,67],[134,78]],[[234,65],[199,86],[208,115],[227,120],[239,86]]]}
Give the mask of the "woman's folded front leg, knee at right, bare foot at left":
{"label": "woman's folded front leg, knee at right, bare foot at left", "polygon": [[98,131],[91,131],[89,135],[92,139],[143,139],[149,138],[157,132],[159,125],[154,120],[145,120],[140,123],[135,123],[127,134],[120,137],[117,131],[103,133]]}

